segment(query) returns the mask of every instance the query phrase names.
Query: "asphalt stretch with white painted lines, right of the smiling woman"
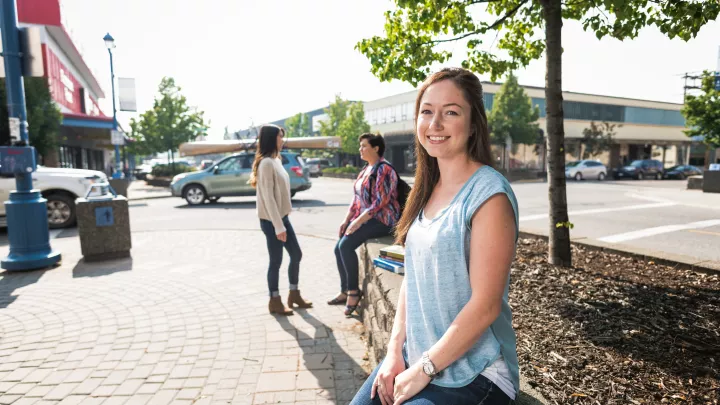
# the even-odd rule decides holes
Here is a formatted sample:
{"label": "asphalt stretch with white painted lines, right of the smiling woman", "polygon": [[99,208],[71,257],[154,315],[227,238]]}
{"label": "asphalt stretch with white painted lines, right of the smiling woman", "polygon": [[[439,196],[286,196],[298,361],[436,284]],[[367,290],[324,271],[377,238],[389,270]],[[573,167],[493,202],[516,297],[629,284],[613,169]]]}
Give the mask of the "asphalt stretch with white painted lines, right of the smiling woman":
{"label": "asphalt stretch with white painted lines, right of the smiling woman", "polygon": [[[545,183],[513,185],[520,228],[547,234]],[[630,248],[720,260],[720,195],[686,190],[681,181],[569,182],[571,237]]]}

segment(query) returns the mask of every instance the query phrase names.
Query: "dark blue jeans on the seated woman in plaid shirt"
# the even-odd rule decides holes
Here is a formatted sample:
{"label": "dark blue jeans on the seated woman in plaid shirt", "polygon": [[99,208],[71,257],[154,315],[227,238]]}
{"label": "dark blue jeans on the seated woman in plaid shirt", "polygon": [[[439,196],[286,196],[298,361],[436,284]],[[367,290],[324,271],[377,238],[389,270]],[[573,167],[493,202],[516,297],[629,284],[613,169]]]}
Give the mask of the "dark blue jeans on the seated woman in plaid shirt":
{"label": "dark blue jeans on the seated woman in plaid shirt", "polygon": [[340,291],[358,289],[358,258],[355,249],[370,238],[388,236],[391,232],[389,226],[372,218],[357,231],[340,238],[335,245],[335,260],[340,273]]}

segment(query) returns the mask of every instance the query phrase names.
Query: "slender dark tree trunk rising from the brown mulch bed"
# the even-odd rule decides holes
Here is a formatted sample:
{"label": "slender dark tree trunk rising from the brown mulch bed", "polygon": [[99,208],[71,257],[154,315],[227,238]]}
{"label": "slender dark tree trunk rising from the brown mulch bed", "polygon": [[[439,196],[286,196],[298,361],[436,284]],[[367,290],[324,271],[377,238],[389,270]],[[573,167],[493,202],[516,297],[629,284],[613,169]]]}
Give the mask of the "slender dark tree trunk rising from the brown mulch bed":
{"label": "slender dark tree trunk rising from the brown mulch bed", "polygon": [[570,226],[565,191],[565,129],[562,97],[562,1],[540,0],[545,18],[545,106],[548,134],[550,233],[548,260],[570,266]]}

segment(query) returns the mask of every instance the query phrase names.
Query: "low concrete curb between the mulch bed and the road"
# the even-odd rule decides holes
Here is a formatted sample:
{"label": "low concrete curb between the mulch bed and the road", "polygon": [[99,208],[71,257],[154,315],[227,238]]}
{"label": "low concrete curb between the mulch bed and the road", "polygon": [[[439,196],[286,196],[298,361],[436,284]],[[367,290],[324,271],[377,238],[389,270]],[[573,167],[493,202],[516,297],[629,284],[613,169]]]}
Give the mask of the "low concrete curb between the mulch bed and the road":
{"label": "low concrete curb between the mulch bed and the road", "polygon": [[[519,236],[521,238],[527,239],[542,239],[545,241],[548,240],[547,235],[522,229],[519,232]],[[576,246],[584,247],[586,249],[635,257],[637,259],[653,261],[657,264],[664,264],[666,266],[672,266],[678,269],[692,270],[712,275],[720,275],[720,262],[718,261],[701,260],[686,255],[665,253],[650,249],[634,248],[622,244],[610,244],[587,238],[570,238],[570,243]]]}

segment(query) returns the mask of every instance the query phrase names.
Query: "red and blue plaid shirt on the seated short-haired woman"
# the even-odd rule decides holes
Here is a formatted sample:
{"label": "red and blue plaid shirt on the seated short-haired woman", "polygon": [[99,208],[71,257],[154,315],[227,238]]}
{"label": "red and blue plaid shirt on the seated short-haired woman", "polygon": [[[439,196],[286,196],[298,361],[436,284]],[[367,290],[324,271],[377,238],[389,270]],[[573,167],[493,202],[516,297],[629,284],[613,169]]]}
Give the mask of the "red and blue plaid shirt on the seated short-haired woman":
{"label": "red and blue plaid shirt on the seated short-haired woman", "polygon": [[[380,165],[380,162],[385,164]],[[380,165],[377,167],[377,165]],[[377,167],[377,169],[374,169]],[[372,170],[376,170],[376,178],[373,181]],[[358,187],[358,182],[362,186]],[[375,218],[383,224],[394,227],[400,219],[400,204],[397,200],[398,176],[395,170],[385,159],[380,159],[376,166],[366,165],[360,171],[353,187],[353,201],[350,204],[354,221],[362,213],[368,212],[371,218]],[[360,188],[360,192],[357,189]]]}

